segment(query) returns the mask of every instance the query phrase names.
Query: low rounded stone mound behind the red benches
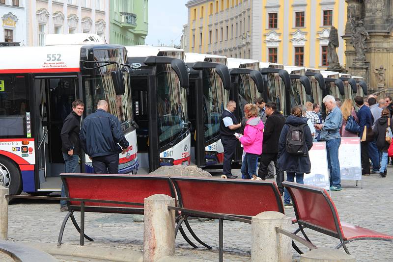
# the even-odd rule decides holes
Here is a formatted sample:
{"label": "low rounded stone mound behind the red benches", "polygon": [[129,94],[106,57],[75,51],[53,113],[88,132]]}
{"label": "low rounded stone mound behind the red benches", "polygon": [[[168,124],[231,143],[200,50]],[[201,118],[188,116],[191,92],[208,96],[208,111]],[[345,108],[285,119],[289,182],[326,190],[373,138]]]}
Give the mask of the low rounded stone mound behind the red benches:
{"label": "low rounded stone mound behind the red benches", "polygon": [[212,175],[198,168],[196,165],[167,165],[160,166],[157,170],[151,172],[149,175],[155,176],[178,176],[178,177],[202,177],[211,178]]}

